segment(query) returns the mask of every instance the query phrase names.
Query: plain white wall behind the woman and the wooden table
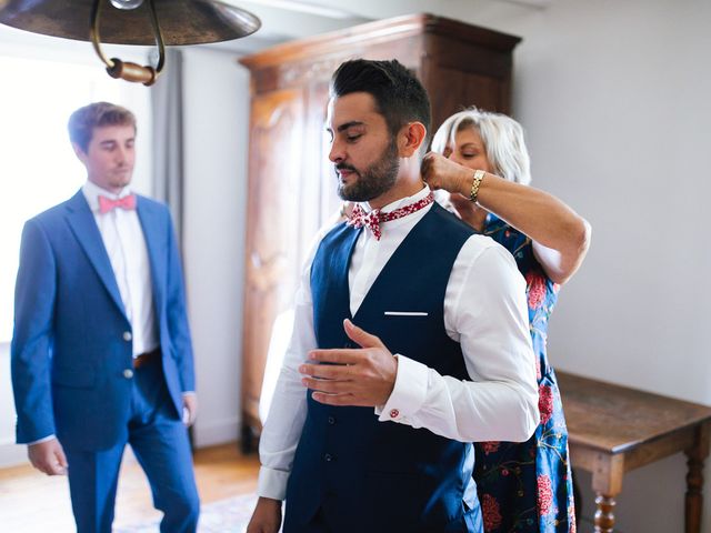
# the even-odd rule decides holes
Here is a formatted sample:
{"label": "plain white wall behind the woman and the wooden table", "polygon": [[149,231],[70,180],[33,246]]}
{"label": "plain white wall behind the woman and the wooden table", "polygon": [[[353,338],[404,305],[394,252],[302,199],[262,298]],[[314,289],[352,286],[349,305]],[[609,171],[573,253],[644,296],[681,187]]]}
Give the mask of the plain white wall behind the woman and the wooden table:
{"label": "plain white wall behind the woman and the wooden table", "polygon": [[[552,363],[711,404],[711,2],[567,0],[468,18],[523,38],[514,113],[534,185],[593,227],[551,322]],[[684,475],[681,454],[628,474],[619,531],[683,531]],[[590,476],[579,481],[587,489]],[[710,494],[707,481],[702,531],[711,531]],[[584,503],[590,517],[587,490]]]}

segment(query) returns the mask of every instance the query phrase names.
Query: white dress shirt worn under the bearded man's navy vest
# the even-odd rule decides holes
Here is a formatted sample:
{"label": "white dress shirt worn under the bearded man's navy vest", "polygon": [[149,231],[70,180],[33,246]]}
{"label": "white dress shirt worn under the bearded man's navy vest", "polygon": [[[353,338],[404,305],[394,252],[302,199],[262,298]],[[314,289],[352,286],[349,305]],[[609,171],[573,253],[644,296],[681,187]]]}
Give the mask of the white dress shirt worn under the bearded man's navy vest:
{"label": "white dress shirt worn under the bearded man's navy vest", "polygon": [[[382,211],[414,203],[429,192],[425,185]],[[368,209],[368,204],[362,207]],[[361,232],[349,266],[352,315],[392,253],[430,209],[428,205],[383,223],[379,241],[369,230]],[[274,500],[286,497],[307,414],[306,388],[298,368],[308,352],[318,348],[310,284],[317,248],[302,272],[292,338],[260,439],[262,467],[257,492]],[[454,261],[444,295],[444,328],[461,344],[471,381],[441,375],[407,353],[395,354],[394,389],[385,405],[375,408],[374,416],[382,423],[427,428],[461,442],[529,439],[538,426],[539,412],[525,283],[511,254],[488,237],[469,238]]]}

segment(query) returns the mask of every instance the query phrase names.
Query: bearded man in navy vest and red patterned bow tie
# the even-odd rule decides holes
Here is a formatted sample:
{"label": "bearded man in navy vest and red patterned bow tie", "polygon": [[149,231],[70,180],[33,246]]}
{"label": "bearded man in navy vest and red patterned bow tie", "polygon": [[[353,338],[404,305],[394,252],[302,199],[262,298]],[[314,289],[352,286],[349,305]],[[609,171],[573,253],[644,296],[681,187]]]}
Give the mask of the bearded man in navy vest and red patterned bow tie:
{"label": "bearded man in navy vest and red patterned bow tie", "polygon": [[333,74],[329,158],[360,203],[303,271],[248,533],[279,531],[284,499],[284,533],[481,533],[494,510],[478,502],[471,442],[538,425],[524,282],[433,202],[429,128],[399,62]]}

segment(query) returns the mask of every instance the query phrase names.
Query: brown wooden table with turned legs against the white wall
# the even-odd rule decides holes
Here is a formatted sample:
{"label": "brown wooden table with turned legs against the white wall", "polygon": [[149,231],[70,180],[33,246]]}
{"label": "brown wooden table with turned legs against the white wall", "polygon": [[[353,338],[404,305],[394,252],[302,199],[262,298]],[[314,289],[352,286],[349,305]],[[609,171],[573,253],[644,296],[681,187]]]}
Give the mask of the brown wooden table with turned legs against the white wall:
{"label": "brown wooden table with turned legs against the white wall", "polygon": [[571,464],[592,473],[595,532],[612,532],[614,499],[625,472],[684,452],[689,459],[685,533],[700,533],[711,408],[565,372],[557,375]]}

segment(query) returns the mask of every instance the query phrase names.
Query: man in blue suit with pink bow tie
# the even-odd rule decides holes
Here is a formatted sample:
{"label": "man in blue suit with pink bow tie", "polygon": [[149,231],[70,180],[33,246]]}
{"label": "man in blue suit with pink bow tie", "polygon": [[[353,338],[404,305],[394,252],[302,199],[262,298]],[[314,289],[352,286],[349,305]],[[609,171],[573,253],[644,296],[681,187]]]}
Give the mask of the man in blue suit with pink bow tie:
{"label": "man in blue suit with pink bow tie", "polygon": [[34,467],[68,474],[78,532],[111,531],[127,443],[164,513],[161,532],[194,532],[187,425],[197,396],[170,214],[130,192],[129,110],[83,107],[69,134],[87,182],[22,233],[11,348],[17,440]]}

